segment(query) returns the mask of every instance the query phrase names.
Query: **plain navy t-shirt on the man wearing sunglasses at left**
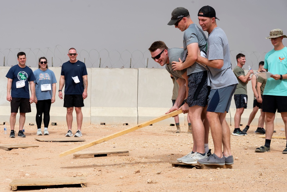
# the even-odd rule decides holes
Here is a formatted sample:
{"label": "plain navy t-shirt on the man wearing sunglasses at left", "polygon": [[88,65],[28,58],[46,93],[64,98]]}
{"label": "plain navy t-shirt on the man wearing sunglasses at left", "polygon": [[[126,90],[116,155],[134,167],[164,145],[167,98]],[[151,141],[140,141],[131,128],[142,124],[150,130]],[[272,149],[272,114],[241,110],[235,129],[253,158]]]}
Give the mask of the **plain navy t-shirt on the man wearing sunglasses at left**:
{"label": "plain navy t-shirt on the man wearing sunglasses at left", "polygon": [[[67,61],[62,65],[61,75],[65,76],[65,94],[82,95],[84,92],[83,76],[88,75],[85,63]],[[79,83],[75,83],[73,77],[78,77]]]}

